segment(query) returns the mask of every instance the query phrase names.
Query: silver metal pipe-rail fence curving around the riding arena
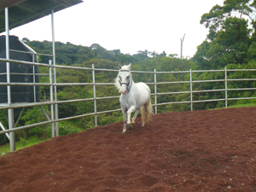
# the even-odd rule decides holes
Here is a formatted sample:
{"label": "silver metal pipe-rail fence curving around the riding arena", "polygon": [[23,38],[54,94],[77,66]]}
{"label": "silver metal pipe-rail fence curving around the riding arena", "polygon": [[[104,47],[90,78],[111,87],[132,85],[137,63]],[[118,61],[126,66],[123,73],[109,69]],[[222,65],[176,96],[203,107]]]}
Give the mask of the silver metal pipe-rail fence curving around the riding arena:
{"label": "silver metal pipe-rail fence curving around the riding arena", "polygon": [[[48,55],[51,56],[51,55]],[[108,111],[97,111],[96,105],[97,101],[99,100],[108,100],[108,99],[113,99],[113,98],[119,98],[119,96],[104,96],[104,97],[97,97],[96,96],[96,85],[113,85],[113,82],[109,83],[96,83],[96,71],[100,72],[115,72],[118,73],[119,70],[114,70],[114,69],[103,69],[103,68],[95,68],[94,64],[91,65],[91,67],[70,67],[70,66],[62,66],[62,65],[52,65],[51,61],[49,61],[49,64],[44,64],[44,63],[38,63],[38,62],[30,62],[30,61],[16,61],[16,60],[10,60],[10,59],[3,59],[0,58],[0,61],[6,62],[6,63],[20,63],[20,64],[25,64],[25,65],[32,65],[32,66],[39,66],[39,67],[48,67],[49,68],[49,73],[45,74],[33,74],[33,75],[49,75],[49,83],[0,83],[0,86],[24,86],[24,85],[29,85],[29,86],[49,86],[49,101],[43,101],[43,102],[24,102],[24,103],[2,103],[0,104],[0,110],[3,113],[3,109],[8,109],[9,110],[9,116],[11,117],[5,117],[9,123],[10,121],[13,121],[12,126],[9,126],[9,129],[4,128],[3,124],[0,122],[0,127],[2,128],[3,131],[0,131],[0,134],[6,134],[7,137],[9,137],[9,134],[19,131],[19,130],[24,130],[28,128],[32,128],[38,125],[47,125],[51,124],[51,137],[59,136],[59,125],[58,122],[64,121],[64,120],[69,120],[69,119],[78,119],[81,117],[86,117],[86,116],[95,116],[95,126],[97,126],[97,115],[102,114],[102,113],[113,113],[120,111],[120,108],[113,109],[113,110],[108,110]],[[56,68],[63,68],[63,69],[77,69],[77,70],[89,70],[92,73],[92,83],[57,83],[56,82]],[[158,106],[162,105],[170,105],[170,104],[180,104],[180,103],[187,103],[190,104],[190,110],[193,110],[193,103],[198,103],[198,102],[218,102],[218,101],[224,101],[225,102],[225,108],[228,106],[228,101],[230,100],[241,100],[241,99],[255,99],[256,97],[241,97],[241,98],[228,98],[228,91],[233,91],[233,90],[256,90],[256,88],[229,88],[228,87],[228,82],[229,81],[255,81],[256,79],[229,79],[228,78],[228,72],[254,72],[256,69],[224,69],[224,70],[197,70],[197,71],[192,71],[191,69],[189,71],[179,71],[179,72],[157,72],[156,69],[154,69],[154,72],[143,72],[143,71],[131,71],[131,73],[149,73],[154,75],[154,82],[147,83],[154,85],[154,92],[151,94],[153,97],[152,100],[154,101],[153,106],[154,106],[154,113],[158,112]],[[209,79],[209,80],[193,80],[193,74],[194,73],[224,73],[224,79]],[[157,82],[157,77],[161,74],[172,74],[172,73],[185,73],[189,74],[189,80],[187,81],[170,81],[170,82]],[[193,90],[193,85],[197,83],[207,83],[207,82],[222,82],[224,84],[224,89],[218,89],[218,90]],[[160,84],[188,84],[189,85],[189,90],[186,91],[175,91],[175,92],[159,92],[157,89],[157,86]],[[76,86],[76,85],[92,85],[93,86],[93,97],[91,98],[84,98],[84,99],[75,99],[75,100],[66,100],[66,101],[57,101],[57,87],[58,86]],[[35,90],[35,89],[34,89]],[[219,98],[219,99],[210,99],[210,100],[193,100],[193,96],[195,93],[203,93],[203,92],[212,92],[212,91],[224,91],[224,98]],[[9,92],[10,94],[10,92]],[[159,103],[158,102],[158,96],[162,95],[173,95],[173,94],[189,94],[189,101],[177,101],[177,102],[164,102],[164,103]],[[58,104],[61,103],[69,103],[69,102],[85,102],[85,101],[94,101],[94,113],[84,113],[80,115],[76,115],[73,117],[67,117],[67,118],[61,118],[59,119],[58,117]],[[42,106],[44,105],[49,105],[50,106],[50,116],[48,113],[44,111],[44,108]],[[20,117],[22,116],[22,113],[24,112],[25,108],[31,108],[39,106],[42,111],[44,112],[44,115],[48,119],[47,121],[44,122],[39,122],[36,124],[32,125],[24,125],[20,127],[16,127],[18,125],[18,122],[20,120]],[[14,122],[14,112],[13,110],[15,108],[23,108],[19,118]],[[4,113],[3,113],[4,114]],[[9,137],[10,138],[10,137]],[[12,140],[12,141],[11,141]],[[12,145],[15,145],[14,138],[10,139],[10,143],[13,143]],[[11,149],[11,151],[13,151]]]}

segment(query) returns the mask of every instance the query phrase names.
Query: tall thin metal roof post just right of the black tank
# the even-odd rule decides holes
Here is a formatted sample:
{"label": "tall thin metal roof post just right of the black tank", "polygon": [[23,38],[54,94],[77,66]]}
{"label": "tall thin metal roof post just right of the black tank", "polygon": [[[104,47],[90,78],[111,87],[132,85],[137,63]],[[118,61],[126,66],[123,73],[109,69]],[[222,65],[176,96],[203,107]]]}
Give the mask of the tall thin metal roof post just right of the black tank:
{"label": "tall thin metal roof post just right of the black tank", "polygon": [[[54,9],[51,10],[51,29],[52,29],[52,55],[53,55],[53,65],[54,65],[54,80],[55,84],[57,83],[56,81],[56,59],[55,59],[55,22],[54,22]],[[55,101],[57,101],[57,86],[55,87]],[[55,104],[55,119],[59,119],[59,110],[58,110],[58,104]],[[59,122],[55,122],[55,131],[56,131],[56,136],[60,136],[59,133]]]}

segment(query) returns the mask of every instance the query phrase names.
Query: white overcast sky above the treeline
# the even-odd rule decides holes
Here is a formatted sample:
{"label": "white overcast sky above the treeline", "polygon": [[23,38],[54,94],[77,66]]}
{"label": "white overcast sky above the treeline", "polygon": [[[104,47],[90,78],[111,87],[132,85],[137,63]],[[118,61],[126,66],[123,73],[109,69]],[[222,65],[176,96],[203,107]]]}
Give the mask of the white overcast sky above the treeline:
{"label": "white overcast sky above the treeline", "polygon": [[[90,46],[100,44],[124,54],[138,50],[195,55],[208,29],[200,24],[201,15],[224,0],[84,0],[55,13],[55,41]],[[45,16],[10,31],[20,39],[51,41],[51,17]],[[3,35],[1,33],[0,35]]]}

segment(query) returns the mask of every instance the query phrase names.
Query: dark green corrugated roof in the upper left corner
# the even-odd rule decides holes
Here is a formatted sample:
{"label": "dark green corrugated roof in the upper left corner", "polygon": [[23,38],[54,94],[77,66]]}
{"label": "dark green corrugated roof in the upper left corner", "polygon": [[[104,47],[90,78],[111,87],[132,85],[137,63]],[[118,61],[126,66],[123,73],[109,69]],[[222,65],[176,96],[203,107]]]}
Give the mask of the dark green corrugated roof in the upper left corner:
{"label": "dark green corrugated roof in the upper left corner", "polygon": [[9,7],[9,29],[22,26],[33,20],[66,9],[83,0],[1,0],[0,1],[0,33],[5,31],[4,9]]}

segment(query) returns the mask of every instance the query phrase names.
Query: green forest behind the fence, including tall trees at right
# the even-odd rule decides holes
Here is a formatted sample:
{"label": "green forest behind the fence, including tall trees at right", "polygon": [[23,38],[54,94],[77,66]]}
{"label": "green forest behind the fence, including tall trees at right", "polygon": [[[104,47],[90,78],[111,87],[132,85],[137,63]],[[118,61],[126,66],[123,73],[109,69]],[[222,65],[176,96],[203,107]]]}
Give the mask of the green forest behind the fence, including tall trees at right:
{"label": "green forest behind the fence, including tall trees at right", "polygon": [[[148,50],[139,50],[135,55],[126,55],[121,53],[120,49],[108,50],[100,44],[92,44],[90,47],[55,43],[56,63],[58,65],[76,66],[76,67],[91,67],[95,64],[96,68],[118,69],[119,63],[122,65],[131,64],[132,71],[189,71],[192,70],[210,70],[210,69],[240,69],[240,68],[255,68],[256,67],[256,41],[255,28],[256,21],[252,16],[255,14],[255,1],[247,0],[226,0],[223,6],[216,5],[207,13],[201,16],[201,24],[209,30],[207,39],[197,47],[197,51],[193,58],[179,59],[176,54],[166,55],[163,53],[150,52]],[[41,54],[52,54],[51,42],[44,41],[29,41],[26,44],[32,47],[36,52]],[[180,48],[177,48],[179,52]],[[39,61],[48,63],[48,56],[40,56]],[[40,67],[40,73],[49,73],[46,67]],[[86,83],[92,82],[91,71],[75,70],[75,69],[56,69],[58,83]],[[111,72],[96,72],[96,82],[113,82],[117,73]],[[133,73],[135,82],[143,81],[146,83],[154,82],[154,75],[148,73]],[[230,72],[229,79],[255,79],[254,72]],[[207,79],[224,79],[224,73],[195,73],[193,80]],[[170,81],[189,81],[187,73],[172,73],[157,76],[157,82]],[[49,83],[48,77],[41,77],[40,83]],[[229,82],[229,88],[250,88],[255,87],[254,81],[236,81]],[[151,86],[151,91],[154,91],[154,86]],[[212,83],[196,83],[193,84],[193,90],[218,90],[224,89],[223,82]],[[49,87],[40,87],[41,99],[49,99]],[[189,84],[159,84],[157,86],[158,93],[160,92],[175,92],[189,90]],[[247,97],[256,96],[253,90],[229,91],[229,97]],[[118,91],[114,86],[96,86],[96,96],[119,96]],[[92,86],[67,86],[58,87],[58,101],[91,98],[93,97]],[[194,94],[193,100],[207,100],[224,98],[224,91],[221,92],[206,92]],[[189,101],[189,94],[174,94],[158,96],[158,102],[180,102]],[[154,103],[154,98],[152,97]],[[241,101],[230,101],[229,105],[240,103]],[[242,101],[254,102],[254,100]],[[223,108],[224,102],[201,102],[194,104],[194,110],[203,110],[209,108]],[[106,111],[119,108],[119,99],[97,101],[97,111]],[[44,106],[44,109],[49,113],[49,107]],[[159,113],[167,113],[171,111],[189,110],[189,104],[172,104],[158,107]],[[15,109],[16,110],[16,109]],[[59,105],[59,117],[93,113],[93,102],[73,102]],[[4,113],[7,113],[4,112]],[[20,111],[15,111],[15,116],[19,115]],[[42,114],[42,115],[41,115]],[[0,120],[5,127],[8,127],[3,114],[0,115]],[[26,108],[25,113],[20,119],[20,125],[30,125],[46,120],[41,109]],[[119,122],[122,120],[120,112],[107,113],[98,115],[98,125],[108,125],[110,123]],[[66,135],[69,133],[90,129],[94,127],[94,116],[75,119],[72,123],[60,122],[60,133]],[[26,138],[37,135],[38,137],[50,136],[50,125],[42,125],[31,129],[16,131],[15,137],[19,141],[20,138]],[[0,135],[0,144],[7,143],[8,139],[5,135]]]}

